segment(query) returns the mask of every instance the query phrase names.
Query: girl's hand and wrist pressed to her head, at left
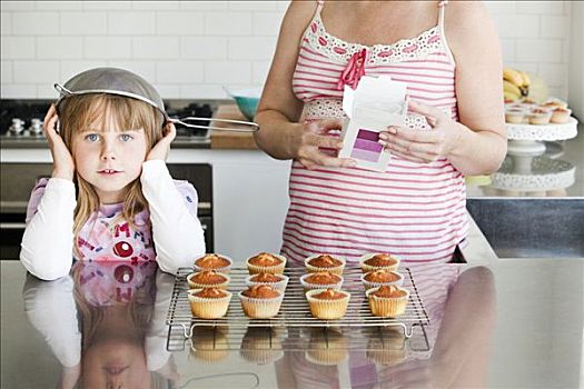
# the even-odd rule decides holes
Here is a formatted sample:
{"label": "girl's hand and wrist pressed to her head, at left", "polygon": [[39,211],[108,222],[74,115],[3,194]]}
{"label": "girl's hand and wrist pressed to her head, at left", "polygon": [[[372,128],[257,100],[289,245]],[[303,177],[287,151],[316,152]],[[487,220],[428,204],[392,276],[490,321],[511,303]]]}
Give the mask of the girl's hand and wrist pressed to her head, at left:
{"label": "girl's hand and wrist pressed to her head, at left", "polygon": [[67,146],[65,146],[61,136],[57,132],[58,120],[59,117],[57,116],[57,109],[55,108],[55,104],[51,104],[42,123],[42,132],[44,132],[44,137],[47,137],[52,154],[53,167],[51,177],[72,181],[75,174],[75,161],[71,152]]}

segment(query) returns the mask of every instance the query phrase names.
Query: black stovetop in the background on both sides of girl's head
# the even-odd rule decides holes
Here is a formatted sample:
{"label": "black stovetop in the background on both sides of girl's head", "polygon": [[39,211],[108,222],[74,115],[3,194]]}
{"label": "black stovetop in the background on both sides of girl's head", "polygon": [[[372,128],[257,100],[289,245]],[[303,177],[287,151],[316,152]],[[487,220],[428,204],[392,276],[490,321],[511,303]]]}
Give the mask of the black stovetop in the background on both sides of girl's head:
{"label": "black stovetop in the background on both sides of girl's head", "polygon": [[[51,100],[0,100],[0,146],[1,148],[47,148],[42,134],[42,120]],[[165,101],[170,118],[200,117],[211,118],[214,110],[210,101],[168,100]],[[195,122],[197,124],[197,122]],[[201,126],[209,124],[201,120]],[[210,131],[192,129],[180,124],[174,147],[208,148]]]}

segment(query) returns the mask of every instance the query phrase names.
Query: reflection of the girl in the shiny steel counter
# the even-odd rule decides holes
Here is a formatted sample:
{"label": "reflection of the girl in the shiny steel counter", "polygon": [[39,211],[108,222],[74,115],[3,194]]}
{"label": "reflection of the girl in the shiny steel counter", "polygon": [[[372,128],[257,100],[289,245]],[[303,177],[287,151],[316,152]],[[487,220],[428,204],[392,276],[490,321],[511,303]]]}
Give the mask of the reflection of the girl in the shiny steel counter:
{"label": "reflection of the girl in the shiny steel counter", "polygon": [[167,388],[177,379],[165,349],[165,278],[174,280],[157,277],[154,261],[79,261],[56,281],[27,277],[24,310],[62,367],[58,387]]}

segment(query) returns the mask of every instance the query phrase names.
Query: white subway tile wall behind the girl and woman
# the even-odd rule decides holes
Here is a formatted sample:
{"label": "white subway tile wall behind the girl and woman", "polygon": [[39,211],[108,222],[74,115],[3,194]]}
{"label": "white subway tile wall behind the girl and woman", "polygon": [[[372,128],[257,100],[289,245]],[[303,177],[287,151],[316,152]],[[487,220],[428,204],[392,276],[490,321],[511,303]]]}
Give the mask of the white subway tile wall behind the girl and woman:
{"label": "white subway tile wall behind the girl and woman", "polygon": [[[567,97],[570,1],[486,1],[505,66]],[[226,98],[260,87],[287,1],[7,1],[1,97],[55,98],[55,82],[97,66],[130,69],[165,98]]]}

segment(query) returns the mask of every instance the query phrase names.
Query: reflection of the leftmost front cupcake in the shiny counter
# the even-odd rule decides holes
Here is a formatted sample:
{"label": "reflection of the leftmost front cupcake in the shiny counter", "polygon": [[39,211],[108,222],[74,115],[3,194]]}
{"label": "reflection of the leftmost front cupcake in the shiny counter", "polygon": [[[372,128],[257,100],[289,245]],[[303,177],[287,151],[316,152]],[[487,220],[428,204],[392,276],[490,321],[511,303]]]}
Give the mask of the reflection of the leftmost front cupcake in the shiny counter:
{"label": "reflection of the leftmost front cupcake in the shiny counter", "polygon": [[190,338],[190,356],[195,359],[216,363],[229,355],[225,330],[219,327],[197,327]]}

